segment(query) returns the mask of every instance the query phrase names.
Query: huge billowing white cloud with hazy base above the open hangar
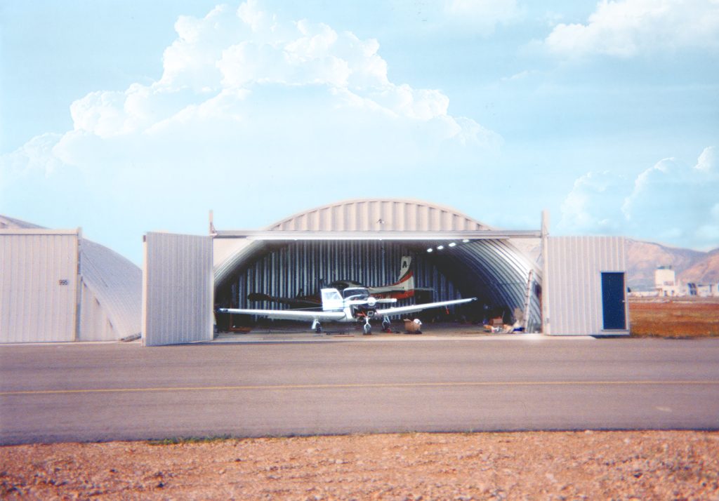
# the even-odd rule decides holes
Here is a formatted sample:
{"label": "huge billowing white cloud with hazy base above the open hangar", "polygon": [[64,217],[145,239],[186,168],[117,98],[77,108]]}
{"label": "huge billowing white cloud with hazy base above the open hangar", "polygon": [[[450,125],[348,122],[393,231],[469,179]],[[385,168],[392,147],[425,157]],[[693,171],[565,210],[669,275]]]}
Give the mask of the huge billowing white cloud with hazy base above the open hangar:
{"label": "huge billowing white cloud with hazy base above the open hangar", "polygon": [[175,29],[159,80],[88,93],[70,106],[73,130],[0,157],[5,210],[52,170],[45,203],[68,203],[52,185],[82,185],[92,193],[75,193],[75,212],[122,213],[138,234],[172,229],[169,211],[266,212],[269,187],[307,205],[324,193],[411,196],[438,167],[446,180],[481,177],[501,142],[450,115],[441,91],[391,82],[377,40],[278,19],[255,1]]}

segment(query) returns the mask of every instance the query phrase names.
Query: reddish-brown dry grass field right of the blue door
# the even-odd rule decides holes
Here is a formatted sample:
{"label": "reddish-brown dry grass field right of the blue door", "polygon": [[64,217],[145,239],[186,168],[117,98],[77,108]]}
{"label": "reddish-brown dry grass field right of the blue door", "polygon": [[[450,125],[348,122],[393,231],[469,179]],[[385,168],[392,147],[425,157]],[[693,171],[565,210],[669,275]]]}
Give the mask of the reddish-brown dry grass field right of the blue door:
{"label": "reddish-brown dry grass field right of the blue door", "polygon": [[631,298],[629,320],[636,337],[719,336],[719,298]]}

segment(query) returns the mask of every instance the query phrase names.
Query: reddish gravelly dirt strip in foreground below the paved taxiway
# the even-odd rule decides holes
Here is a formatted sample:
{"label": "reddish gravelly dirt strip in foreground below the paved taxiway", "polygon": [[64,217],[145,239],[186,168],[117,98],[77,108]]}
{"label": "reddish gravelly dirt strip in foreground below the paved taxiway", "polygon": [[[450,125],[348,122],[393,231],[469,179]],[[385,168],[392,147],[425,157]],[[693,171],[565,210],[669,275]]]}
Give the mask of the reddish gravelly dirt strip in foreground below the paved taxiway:
{"label": "reddish gravelly dirt strip in foreground below the paved taxiway", "polygon": [[4,499],[719,500],[719,432],[4,446]]}

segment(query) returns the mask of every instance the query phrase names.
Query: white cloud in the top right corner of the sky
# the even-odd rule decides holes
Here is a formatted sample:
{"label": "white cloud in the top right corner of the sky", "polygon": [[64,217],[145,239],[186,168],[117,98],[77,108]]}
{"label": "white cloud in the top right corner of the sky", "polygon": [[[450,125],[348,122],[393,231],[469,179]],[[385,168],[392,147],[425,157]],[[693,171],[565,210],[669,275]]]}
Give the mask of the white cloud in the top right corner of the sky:
{"label": "white cloud in the top right corner of the sky", "polygon": [[544,40],[565,58],[719,49],[717,0],[603,0],[586,24],[559,24]]}

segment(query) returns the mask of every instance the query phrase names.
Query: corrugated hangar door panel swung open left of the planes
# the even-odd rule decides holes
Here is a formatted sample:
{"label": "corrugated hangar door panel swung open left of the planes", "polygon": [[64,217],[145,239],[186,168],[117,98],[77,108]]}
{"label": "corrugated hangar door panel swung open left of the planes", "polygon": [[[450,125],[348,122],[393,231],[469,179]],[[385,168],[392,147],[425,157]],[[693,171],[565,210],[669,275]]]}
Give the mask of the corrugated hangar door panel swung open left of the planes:
{"label": "corrugated hangar door panel swung open left of the planes", "polygon": [[145,346],[211,341],[212,239],[167,233],[145,236]]}

